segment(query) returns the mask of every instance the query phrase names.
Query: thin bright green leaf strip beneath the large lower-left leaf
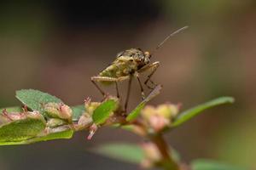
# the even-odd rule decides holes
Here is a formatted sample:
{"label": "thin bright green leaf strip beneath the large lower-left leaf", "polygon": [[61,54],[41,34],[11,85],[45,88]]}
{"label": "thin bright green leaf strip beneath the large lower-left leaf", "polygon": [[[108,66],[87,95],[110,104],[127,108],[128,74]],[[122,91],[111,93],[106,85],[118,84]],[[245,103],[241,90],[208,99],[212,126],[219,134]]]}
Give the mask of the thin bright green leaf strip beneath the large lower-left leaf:
{"label": "thin bright green leaf strip beneath the large lower-left leaf", "polygon": [[26,141],[26,144],[32,144],[35,142],[42,142],[42,141],[48,141],[48,140],[54,140],[54,139],[71,139],[72,137],[73,137],[73,130],[69,129],[63,132],[49,133],[46,136],[29,139]]}

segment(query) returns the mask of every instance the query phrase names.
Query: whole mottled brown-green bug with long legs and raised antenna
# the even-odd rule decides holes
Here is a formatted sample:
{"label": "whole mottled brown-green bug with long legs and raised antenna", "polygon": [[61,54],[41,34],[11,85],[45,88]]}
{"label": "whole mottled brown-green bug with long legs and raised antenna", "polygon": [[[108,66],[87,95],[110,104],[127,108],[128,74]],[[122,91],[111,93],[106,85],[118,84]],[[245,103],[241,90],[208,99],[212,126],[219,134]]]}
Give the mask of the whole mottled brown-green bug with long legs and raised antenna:
{"label": "whole mottled brown-green bug with long legs and raised antenna", "polygon": [[[155,48],[154,52],[158,50],[170,37],[177,34],[180,31],[185,30],[188,26],[172,32],[168,37],[166,37],[158,46]],[[150,63],[150,59],[153,56],[154,52],[149,53],[148,51],[143,51],[140,48],[131,48],[117,54],[116,59],[111,65],[101,71],[98,76],[90,77],[91,82],[96,86],[96,88],[102,93],[104,97],[107,94],[99,87],[96,82],[101,82],[104,85],[115,84],[117,97],[119,98],[119,88],[118,82],[128,80],[128,89],[125,99],[125,112],[127,110],[128,100],[131,91],[131,81],[133,77],[136,77],[139,87],[141,89],[142,99],[145,99],[143,84],[140,80],[140,74],[145,71],[150,71],[147,79],[144,84],[149,89],[154,89],[157,86],[152,80],[151,77],[154,75],[154,72],[160,66],[159,61]],[[150,82],[154,87],[148,85]]]}

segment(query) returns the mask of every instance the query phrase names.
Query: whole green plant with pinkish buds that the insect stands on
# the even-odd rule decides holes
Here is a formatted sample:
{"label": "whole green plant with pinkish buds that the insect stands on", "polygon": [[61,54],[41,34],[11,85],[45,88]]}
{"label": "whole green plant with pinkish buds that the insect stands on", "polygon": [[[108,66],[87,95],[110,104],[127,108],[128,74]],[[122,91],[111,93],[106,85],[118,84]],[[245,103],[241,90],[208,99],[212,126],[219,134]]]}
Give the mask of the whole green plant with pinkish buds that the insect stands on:
{"label": "whole green plant with pinkish buds that the insect stands on", "polygon": [[177,151],[166,143],[164,133],[172,131],[202,111],[217,105],[233,103],[231,97],[213,99],[187,111],[179,105],[146,105],[160,94],[160,86],[143,100],[130,114],[125,114],[119,99],[108,96],[102,102],[84,100],[84,105],[70,107],[61,99],[38,90],[20,90],[16,98],[23,107],[2,109],[0,114],[0,145],[32,144],[53,139],[71,139],[80,130],[90,132],[91,139],[102,126],[118,127],[147,139],[143,144],[102,144],[92,151],[121,161],[140,163],[143,167],[162,167],[177,170],[238,170],[215,161],[197,160],[191,165],[180,161]]}

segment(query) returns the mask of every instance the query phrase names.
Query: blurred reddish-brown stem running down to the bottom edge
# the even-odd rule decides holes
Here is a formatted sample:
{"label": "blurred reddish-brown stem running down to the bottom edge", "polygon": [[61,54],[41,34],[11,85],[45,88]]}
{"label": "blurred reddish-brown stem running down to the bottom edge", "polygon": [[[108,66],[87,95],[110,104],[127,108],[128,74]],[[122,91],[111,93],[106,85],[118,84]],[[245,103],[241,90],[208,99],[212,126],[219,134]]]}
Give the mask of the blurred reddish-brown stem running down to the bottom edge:
{"label": "blurred reddish-brown stem running down to the bottom edge", "polygon": [[166,144],[166,140],[163,138],[162,133],[158,133],[150,139],[160,150],[160,154],[162,156],[160,166],[166,170],[179,170],[180,168],[177,162],[172,159],[172,156],[170,156],[170,148],[168,144]]}

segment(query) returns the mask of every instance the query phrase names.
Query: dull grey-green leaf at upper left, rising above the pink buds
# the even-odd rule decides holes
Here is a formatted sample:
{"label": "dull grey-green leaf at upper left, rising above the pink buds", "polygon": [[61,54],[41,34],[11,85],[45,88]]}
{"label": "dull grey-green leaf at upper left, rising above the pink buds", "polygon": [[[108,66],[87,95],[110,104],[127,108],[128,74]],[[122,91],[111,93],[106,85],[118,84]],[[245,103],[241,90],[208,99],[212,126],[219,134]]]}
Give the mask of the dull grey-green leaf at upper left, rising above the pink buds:
{"label": "dull grey-green leaf at upper left, rising above the pink buds", "polygon": [[16,91],[16,98],[19,99],[23,105],[27,105],[28,108],[32,109],[32,111],[40,111],[42,113],[44,112],[44,104],[62,103],[61,99],[55,96],[33,89]]}

